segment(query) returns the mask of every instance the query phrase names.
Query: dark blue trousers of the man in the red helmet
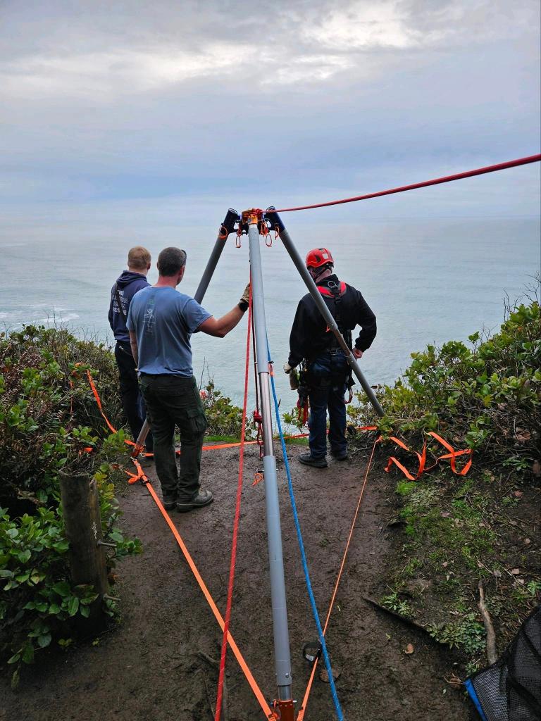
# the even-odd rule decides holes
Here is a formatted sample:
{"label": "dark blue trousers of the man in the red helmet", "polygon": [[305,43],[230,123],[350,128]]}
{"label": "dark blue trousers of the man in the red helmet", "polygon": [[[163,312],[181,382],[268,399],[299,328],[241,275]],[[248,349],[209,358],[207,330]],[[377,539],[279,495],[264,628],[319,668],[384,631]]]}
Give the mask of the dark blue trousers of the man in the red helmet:
{"label": "dark blue trousers of the man in the red helmet", "polygon": [[327,455],[327,409],[329,411],[329,443],[335,455],[346,453],[346,381],[348,361],[341,350],[322,353],[308,366],[308,418],[310,455]]}

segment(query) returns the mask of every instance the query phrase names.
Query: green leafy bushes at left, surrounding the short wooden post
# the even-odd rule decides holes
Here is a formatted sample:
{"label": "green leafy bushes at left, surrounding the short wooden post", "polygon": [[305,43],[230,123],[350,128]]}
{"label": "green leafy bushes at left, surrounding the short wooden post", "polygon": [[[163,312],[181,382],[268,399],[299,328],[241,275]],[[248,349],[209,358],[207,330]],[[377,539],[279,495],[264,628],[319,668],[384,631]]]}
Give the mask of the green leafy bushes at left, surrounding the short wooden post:
{"label": "green leafy bushes at left, surrounding the short wooden post", "polygon": [[[102,402],[116,422],[118,376],[102,345],[66,329],[27,326],[0,337],[0,652],[15,665],[31,663],[54,637],[69,641],[71,619],[87,617],[97,598],[72,586],[60,505],[58,472],[87,472],[100,492],[102,532],[115,557],[139,552],[115,527],[115,470],[126,451],[123,430],[109,433],[86,376],[100,376]],[[115,560],[108,559],[113,567]],[[113,612],[111,605],[107,609]]]}

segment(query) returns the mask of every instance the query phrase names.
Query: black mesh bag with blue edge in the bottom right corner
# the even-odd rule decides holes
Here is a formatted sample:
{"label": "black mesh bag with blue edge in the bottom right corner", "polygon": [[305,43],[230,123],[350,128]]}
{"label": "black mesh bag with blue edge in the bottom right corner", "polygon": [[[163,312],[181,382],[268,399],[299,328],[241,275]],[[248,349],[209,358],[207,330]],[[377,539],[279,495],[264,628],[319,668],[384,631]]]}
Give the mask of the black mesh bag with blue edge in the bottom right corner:
{"label": "black mesh bag with blue edge in the bottom right corner", "polygon": [[501,658],[465,686],[483,721],[541,721],[541,606]]}

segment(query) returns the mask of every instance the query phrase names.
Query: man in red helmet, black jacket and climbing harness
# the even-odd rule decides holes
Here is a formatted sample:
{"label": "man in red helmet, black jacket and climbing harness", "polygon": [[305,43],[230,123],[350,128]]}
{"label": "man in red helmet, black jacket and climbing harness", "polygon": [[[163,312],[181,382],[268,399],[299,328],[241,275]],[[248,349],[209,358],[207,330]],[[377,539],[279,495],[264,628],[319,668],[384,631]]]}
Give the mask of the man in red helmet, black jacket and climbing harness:
{"label": "man in red helmet, black jacket and climbing harness", "polygon": [[[333,273],[333,256],[327,248],[311,250],[306,265],[353,355],[361,358],[376,337],[374,313],[356,288],[338,280]],[[361,326],[361,332],[352,347],[351,331],[357,325]],[[338,461],[348,457],[345,395],[351,376],[346,354],[309,293],[297,306],[289,336],[289,358],[283,370],[290,373],[303,361],[310,404],[310,452],[301,454],[299,461],[327,468],[327,409],[330,453]]]}

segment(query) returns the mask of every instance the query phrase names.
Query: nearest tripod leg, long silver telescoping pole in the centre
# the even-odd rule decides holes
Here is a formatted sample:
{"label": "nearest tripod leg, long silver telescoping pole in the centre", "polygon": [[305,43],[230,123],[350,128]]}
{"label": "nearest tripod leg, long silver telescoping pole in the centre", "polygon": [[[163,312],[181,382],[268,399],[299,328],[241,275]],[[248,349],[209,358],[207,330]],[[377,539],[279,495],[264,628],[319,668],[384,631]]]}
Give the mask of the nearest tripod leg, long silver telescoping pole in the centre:
{"label": "nearest tripod leg, long silver telescoping pole in the centre", "polygon": [[291,696],[291,658],[289,655],[289,629],[286,609],[286,583],[283,575],[282,535],[276,479],[276,457],[273,451],[273,418],[271,414],[271,388],[267,327],[265,322],[265,299],[261,273],[260,234],[258,224],[261,211],[242,213],[242,223],[248,226],[250,243],[250,270],[252,274],[252,311],[255,328],[255,348],[258,363],[261,416],[263,419],[263,474],[265,478],[265,502],[267,514],[268,558],[271,570],[271,602],[273,609],[273,634],[276,681],[278,684],[278,708],[281,721],[294,721]]}

